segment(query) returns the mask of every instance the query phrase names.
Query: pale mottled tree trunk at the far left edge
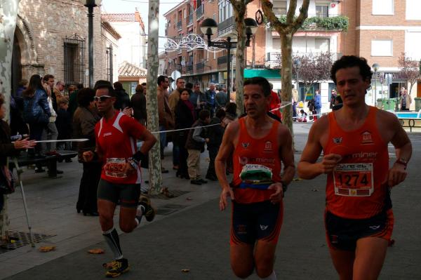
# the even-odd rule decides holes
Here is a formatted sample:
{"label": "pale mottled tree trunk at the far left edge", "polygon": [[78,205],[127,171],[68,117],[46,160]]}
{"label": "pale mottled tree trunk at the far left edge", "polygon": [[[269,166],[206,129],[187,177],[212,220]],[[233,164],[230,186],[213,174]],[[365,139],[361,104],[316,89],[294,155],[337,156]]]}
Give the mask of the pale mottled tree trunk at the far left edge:
{"label": "pale mottled tree trunk at the far left edge", "polygon": [[[6,121],[8,121],[11,102],[12,52],[18,6],[19,0],[0,0],[0,93],[4,95],[5,99]],[[5,195],[4,207],[0,209],[0,244],[8,239],[7,199],[8,196]]]}

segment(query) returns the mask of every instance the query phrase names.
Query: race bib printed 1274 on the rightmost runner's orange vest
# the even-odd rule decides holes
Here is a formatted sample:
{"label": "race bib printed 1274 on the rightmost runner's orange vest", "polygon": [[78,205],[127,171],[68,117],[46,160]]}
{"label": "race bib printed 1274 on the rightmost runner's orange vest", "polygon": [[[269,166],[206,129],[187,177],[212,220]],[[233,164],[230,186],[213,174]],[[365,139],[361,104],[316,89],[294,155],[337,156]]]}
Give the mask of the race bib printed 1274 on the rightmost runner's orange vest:
{"label": "race bib printed 1274 on the rightmost runner's orange vest", "polygon": [[373,164],[338,164],[333,185],[336,195],[370,196],[374,192]]}

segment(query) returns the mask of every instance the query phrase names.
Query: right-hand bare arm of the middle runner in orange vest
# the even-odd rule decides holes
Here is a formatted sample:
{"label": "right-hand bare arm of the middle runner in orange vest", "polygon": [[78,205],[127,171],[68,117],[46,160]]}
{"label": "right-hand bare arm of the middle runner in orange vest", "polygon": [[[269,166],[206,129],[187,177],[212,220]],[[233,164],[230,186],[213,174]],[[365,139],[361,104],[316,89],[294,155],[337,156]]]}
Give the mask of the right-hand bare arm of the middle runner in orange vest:
{"label": "right-hand bare arm of the middle runner in orange vest", "polygon": [[282,182],[286,185],[293,180],[295,175],[295,162],[293,150],[293,137],[288,128],[281,126],[280,139],[283,139],[279,156],[283,163]]}

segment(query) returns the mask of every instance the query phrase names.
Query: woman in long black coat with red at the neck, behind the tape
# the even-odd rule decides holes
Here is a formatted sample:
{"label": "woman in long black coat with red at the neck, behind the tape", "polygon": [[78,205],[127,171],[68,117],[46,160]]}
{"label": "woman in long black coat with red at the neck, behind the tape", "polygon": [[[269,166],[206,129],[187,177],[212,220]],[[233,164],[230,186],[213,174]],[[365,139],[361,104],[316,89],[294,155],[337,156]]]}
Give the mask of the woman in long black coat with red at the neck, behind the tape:
{"label": "woman in long black coat with red at the neck, behind the tape", "polygon": [[[191,90],[187,88],[180,90],[180,100],[178,100],[177,106],[175,107],[175,129],[191,128],[194,121],[196,121],[194,105],[189,100],[190,93]],[[175,133],[175,142],[180,147],[180,166],[175,175],[186,179],[190,179],[189,173],[187,172],[187,156],[189,154],[185,148],[188,135],[189,130],[187,129]]]}

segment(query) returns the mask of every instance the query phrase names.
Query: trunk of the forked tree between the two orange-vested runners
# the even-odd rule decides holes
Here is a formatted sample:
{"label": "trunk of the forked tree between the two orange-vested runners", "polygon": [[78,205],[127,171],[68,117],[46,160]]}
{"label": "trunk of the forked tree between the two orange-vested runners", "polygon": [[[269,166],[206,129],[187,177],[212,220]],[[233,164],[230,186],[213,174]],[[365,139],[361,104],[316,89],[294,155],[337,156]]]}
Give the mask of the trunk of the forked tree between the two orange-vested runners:
{"label": "trunk of the forked tree between the two orange-vested runners", "polygon": [[[282,68],[281,68],[281,79],[282,79],[282,103],[291,102],[292,97],[292,53],[293,53],[293,34],[280,33],[281,36],[281,53],[282,53]],[[282,121],[283,124],[288,126],[291,135],[294,135],[293,131],[293,106],[289,105],[282,108]]]}

